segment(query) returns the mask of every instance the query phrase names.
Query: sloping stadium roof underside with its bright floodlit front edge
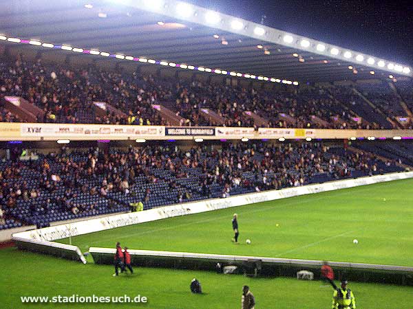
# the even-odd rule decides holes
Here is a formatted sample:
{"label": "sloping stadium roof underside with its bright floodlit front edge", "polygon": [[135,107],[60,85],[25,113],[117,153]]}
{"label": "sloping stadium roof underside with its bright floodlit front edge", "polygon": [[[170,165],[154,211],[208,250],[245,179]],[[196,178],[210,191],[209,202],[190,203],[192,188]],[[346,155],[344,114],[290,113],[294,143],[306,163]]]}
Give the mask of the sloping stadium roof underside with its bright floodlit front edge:
{"label": "sloping stadium roof underside with its bright floodlit front edge", "polygon": [[413,76],[409,65],[182,1],[32,0],[24,7],[24,1],[1,3],[0,39],[10,44],[49,43],[43,47],[96,54],[102,60],[96,51],[273,82]]}

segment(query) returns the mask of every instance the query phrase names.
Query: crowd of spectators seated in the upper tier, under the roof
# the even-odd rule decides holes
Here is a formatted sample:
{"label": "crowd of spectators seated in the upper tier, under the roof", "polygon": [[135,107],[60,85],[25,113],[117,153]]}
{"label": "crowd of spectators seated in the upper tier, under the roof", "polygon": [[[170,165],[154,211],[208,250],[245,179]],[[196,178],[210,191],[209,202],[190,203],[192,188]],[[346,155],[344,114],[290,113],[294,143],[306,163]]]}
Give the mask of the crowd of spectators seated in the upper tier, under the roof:
{"label": "crowd of spectators seated in the upper tier, under the roof", "polygon": [[[372,88],[372,93],[380,89]],[[202,113],[210,108],[224,118],[224,126],[257,126],[251,111],[271,127],[296,128],[380,128],[374,114],[364,122],[354,121],[363,110],[352,87],[284,87],[254,89],[240,85],[213,84],[200,80],[127,73],[121,69],[104,71],[95,65],[74,69],[70,65],[43,65],[17,60],[0,62],[0,95],[17,95],[39,106],[45,115],[39,122],[96,124],[163,124],[153,104],[166,104],[182,117],[182,126],[218,125]],[[372,95],[372,98],[376,98]],[[381,99],[394,99],[382,96]],[[384,100],[383,99],[383,100]],[[106,102],[123,112],[96,113],[93,102]],[[379,110],[387,112],[383,104]],[[390,108],[389,107],[389,108]],[[392,110],[392,108],[390,108]],[[377,113],[379,112],[377,111]],[[19,121],[1,110],[1,121]],[[284,117],[288,115],[288,119]],[[321,119],[321,121],[320,121]]]}

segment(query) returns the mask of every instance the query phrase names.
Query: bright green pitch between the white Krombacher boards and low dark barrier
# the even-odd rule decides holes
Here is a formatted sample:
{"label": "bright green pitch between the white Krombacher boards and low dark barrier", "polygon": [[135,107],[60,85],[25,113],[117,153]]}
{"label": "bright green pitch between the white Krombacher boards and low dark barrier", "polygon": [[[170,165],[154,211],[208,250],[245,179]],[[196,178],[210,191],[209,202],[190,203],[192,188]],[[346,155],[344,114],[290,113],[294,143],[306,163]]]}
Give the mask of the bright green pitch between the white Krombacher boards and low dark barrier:
{"label": "bright green pitch between the white Krombacher boards and low dark barrier", "polygon": [[412,193],[410,179],[379,183],[100,231],[72,244],[413,266]]}

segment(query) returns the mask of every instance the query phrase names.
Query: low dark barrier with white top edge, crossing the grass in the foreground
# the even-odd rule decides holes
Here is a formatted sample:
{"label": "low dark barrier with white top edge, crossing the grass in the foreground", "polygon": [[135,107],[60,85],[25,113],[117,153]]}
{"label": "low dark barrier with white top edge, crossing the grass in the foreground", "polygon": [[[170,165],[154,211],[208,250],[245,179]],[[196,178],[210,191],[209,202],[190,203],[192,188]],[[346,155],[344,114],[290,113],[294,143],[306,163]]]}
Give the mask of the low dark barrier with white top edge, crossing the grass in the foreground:
{"label": "low dark barrier with white top edge, crossing the grass in the foreground", "polygon": [[[260,275],[267,277],[295,277],[297,271],[312,271],[320,277],[323,261],[284,258],[264,258],[244,255],[222,255],[172,251],[128,250],[133,266],[161,267],[214,271],[218,263],[224,266],[237,266],[244,273],[248,263],[260,262]],[[116,249],[89,248],[96,264],[113,264]],[[385,284],[413,285],[413,267],[363,264],[352,262],[329,262],[337,279],[346,277],[352,281],[380,282]]]}

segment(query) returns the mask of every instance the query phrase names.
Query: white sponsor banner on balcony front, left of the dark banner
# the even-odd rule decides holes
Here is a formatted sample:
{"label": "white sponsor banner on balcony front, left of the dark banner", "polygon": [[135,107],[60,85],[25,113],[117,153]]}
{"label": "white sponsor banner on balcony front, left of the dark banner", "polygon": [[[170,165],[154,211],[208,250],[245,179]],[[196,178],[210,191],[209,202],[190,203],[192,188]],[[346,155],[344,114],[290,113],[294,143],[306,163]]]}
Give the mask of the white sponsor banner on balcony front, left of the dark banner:
{"label": "white sponsor banner on balcony front, left of the dark banner", "polygon": [[164,126],[118,126],[105,124],[21,124],[21,136],[67,139],[163,137]]}

